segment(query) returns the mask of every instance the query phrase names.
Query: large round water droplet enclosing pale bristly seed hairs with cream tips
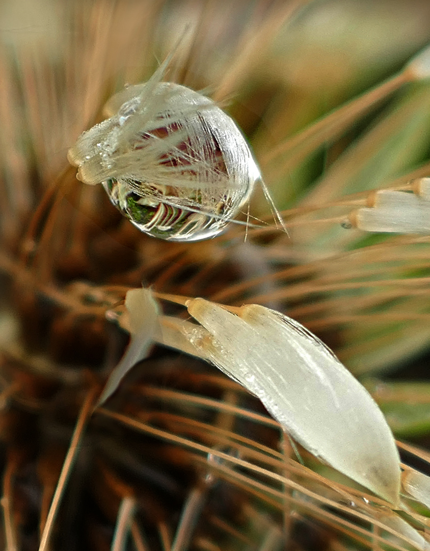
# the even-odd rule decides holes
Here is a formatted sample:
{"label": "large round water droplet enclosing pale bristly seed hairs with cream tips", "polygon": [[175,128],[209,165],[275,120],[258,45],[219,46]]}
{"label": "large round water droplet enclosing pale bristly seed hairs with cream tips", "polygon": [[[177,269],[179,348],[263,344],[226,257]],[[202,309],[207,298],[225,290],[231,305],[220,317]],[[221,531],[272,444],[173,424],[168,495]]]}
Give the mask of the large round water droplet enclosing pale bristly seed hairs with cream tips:
{"label": "large round water droplet enclosing pale bristly seed hairs with cream tips", "polygon": [[102,183],[141,231],[171,241],[214,237],[248,201],[260,172],[240,129],[213,101],[179,84],[128,87],[105,121],[69,150],[78,179]]}

